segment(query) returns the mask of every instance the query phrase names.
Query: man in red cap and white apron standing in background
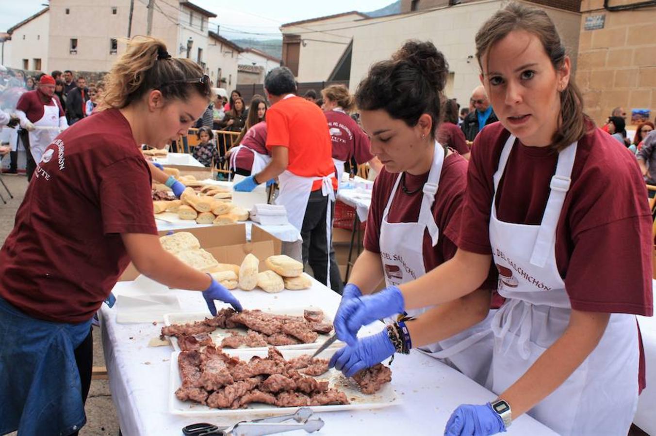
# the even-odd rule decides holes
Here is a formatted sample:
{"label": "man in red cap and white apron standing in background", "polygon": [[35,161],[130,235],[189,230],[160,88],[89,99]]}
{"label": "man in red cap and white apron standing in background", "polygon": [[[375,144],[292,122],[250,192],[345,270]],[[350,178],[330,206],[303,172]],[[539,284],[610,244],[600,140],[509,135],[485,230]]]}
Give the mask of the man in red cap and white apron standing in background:
{"label": "man in red cap and white apron standing in background", "polygon": [[16,115],[20,119],[20,126],[24,129],[20,131],[20,141],[26,151],[30,151],[26,168],[28,180],[31,179],[42,158],[48,160],[52,158],[51,155],[44,155],[43,152],[59,132],[68,127],[62,104],[54,96],[54,84],[52,76],[47,74],[41,76],[39,86],[20,96],[16,105]]}

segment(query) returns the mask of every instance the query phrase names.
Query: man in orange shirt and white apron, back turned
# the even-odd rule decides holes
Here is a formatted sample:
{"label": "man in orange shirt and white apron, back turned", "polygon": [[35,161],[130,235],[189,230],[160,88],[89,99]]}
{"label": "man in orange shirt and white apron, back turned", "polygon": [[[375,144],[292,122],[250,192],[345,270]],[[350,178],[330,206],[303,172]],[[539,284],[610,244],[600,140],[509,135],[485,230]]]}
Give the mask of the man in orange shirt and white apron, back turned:
{"label": "man in orange shirt and white apron, back turned", "polygon": [[278,177],[276,204],[287,209],[289,223],[303,238],[303,261],[314,277],[341,293],[342,280],[335,261],[331,228],[335,209],[335,163],[328,122],[314,103],[295,95],[296,81],[287,67],[272,69],[264,79],[266,148],[271,162],[259,173],[236,183],[235,191],[253,191]]}

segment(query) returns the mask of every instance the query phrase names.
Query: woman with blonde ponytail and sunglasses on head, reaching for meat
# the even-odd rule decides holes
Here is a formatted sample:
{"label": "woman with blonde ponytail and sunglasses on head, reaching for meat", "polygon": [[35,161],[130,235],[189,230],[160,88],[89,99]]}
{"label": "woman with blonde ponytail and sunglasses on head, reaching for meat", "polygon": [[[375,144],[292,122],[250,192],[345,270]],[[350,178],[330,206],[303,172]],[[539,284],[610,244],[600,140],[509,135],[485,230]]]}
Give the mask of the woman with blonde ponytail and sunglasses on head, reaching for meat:
{"label": "woman with blonde ponytail and sunglasses on head, reaching for meat", "polygon": [[37,166],[0,251],[0,434],[71,435],[85,424],[91,318],[130,261],[173,288],[241,310],[230,292],[164,251],[149,166],[211,96],[194,62],[133,39],[110,72],[100,111],[60,134]]}

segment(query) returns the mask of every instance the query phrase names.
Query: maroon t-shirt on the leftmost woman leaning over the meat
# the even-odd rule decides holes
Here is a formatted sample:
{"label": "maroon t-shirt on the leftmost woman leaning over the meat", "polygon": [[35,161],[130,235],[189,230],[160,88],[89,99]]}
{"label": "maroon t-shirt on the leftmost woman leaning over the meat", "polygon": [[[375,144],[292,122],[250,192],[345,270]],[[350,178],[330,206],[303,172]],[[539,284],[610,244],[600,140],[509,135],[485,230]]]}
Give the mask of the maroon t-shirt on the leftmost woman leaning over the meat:
{"label": "maroon t-shirt on the leftmost woman leaning over the meat", "polygon": [[34,175],[0,250],[0,297],[34,318],[85,321],[130,261],[121,233],[157,234],[148,164],[109,109],[62,132]]}

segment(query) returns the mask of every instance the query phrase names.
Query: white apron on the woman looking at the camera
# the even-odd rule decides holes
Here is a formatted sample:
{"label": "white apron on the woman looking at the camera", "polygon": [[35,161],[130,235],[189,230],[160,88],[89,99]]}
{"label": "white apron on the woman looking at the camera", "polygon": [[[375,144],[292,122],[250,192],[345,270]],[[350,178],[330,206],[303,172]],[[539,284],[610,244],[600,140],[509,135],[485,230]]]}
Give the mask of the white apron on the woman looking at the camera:
{"label": "white apron on the woman looking at the camera", "polygon": [[[510,136],[501,153],[493,198],[514,142]],[[576,151],[573,143],[558,155],[540,225],[499,221],[492,202],[490,243],[499,294],[506,298],[492,325],[495,348],[487,388],[497,394],[514,384],[569,322],[569,297],[556,265],[556,227]],[[638,360],[636,317],[611,314],[594,351],[528,414],[564,436],[626,435],[638,404]]]}

